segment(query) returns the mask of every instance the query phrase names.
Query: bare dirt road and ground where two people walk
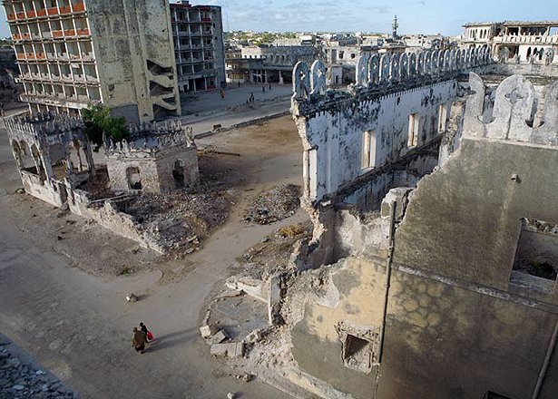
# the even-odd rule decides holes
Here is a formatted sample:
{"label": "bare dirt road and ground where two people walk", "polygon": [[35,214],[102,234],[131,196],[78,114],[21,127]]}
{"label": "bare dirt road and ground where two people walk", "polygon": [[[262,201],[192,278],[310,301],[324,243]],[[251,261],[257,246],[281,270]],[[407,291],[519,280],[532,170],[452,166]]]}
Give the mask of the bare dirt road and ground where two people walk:
{"label": "bare dirt road and ground where two people walk", "polygon": [[[5,134],[0,136],[0,331],[80,397],[285,397],[258,378],[244,383],[230,377],[225,365],[210,358],[197,330],[210,292],[240,268],[237,258],[277,229],[308,220],[299,209],[266,226],[243,221],[260,192],[301,184],[298,133],[290,117],[282,117],[198,145],[240,154],[212,154],[203,161],[210,174],[228,177],[229,219],[200,250],[169,260],[16,194],[21,182]],[[140,301],[126,303],[129,292]],[[140,321],[158,338],[145,355],[128,347],[131,328]]]}

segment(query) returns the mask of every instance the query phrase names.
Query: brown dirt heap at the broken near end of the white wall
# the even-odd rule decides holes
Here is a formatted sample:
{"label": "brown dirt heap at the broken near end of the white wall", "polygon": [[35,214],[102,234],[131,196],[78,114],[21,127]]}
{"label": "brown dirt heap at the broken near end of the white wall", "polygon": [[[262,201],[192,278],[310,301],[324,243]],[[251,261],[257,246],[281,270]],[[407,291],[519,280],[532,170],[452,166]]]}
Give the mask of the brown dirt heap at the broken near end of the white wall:
{"label": "brown dirt heap at the broken near end of the white wall", "polygon": [[289,258],[294,244],[301,239],[311,238],[312,229],[313,225],[309,220],[277,229],[237,258],[244,268],[240,274],[262,278],[289,270]]}

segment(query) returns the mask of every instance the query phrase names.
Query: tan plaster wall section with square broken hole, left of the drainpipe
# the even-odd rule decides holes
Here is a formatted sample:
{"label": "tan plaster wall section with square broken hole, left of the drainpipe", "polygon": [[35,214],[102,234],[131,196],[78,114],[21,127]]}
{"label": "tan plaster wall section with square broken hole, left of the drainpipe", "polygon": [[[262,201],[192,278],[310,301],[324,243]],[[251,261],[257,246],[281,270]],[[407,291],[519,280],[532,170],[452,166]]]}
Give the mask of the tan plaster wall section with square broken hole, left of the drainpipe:
{"label": "tan plaster wall section with square broken hole, left of the drainpipe", "polygon": [[[373,397],[376,385],[382,263],[351,257],[308,271],[289,289],[284,311],[291,317],[291,354],[299,368],[361,398]],[[362,347],[351,350],[348,335],[361,339]]]}

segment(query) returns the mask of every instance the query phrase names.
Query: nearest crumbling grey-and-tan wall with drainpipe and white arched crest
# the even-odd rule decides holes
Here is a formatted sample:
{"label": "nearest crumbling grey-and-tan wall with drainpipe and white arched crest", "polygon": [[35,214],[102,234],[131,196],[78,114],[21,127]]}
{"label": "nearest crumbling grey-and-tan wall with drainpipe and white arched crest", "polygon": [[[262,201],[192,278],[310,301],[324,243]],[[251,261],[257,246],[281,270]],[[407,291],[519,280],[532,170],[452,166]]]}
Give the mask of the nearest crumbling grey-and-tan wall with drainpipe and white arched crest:
{"label": "nearest crumbling grey-and-tan wall with drainpipe and white arched crest", "polygon": [[[501,83],[494,102],[475,75],[471,89],[458,149],[415,190],[390,191],[384,200],[408,196],[406,207],[396,208],[403,217],[392,257],[381,250],[381,223],[335,204],[324,212],[325,201],[314,208],[313,220],[322,222],[314,248],[334,254],[340,247],[347,258],[304,271],[284,308],[299,368],[339,391],[361,398],[491,392],[548,399],[558,392],[558,85],[547,88],[544,101],[520,76]],[[544,103],[540,123],[535,102]],[[537,236],[526,237],[525,229]],[[547,276],[517,278],[528,272],[514,268],[518,256],[533,258],[533,268]],[[351,364],[362,356],[347,362],[336,341],[350,335],[346,324],[360,326],[351,342],[372,351],[373,341],[357,332],[384,328],[369,375]]]}

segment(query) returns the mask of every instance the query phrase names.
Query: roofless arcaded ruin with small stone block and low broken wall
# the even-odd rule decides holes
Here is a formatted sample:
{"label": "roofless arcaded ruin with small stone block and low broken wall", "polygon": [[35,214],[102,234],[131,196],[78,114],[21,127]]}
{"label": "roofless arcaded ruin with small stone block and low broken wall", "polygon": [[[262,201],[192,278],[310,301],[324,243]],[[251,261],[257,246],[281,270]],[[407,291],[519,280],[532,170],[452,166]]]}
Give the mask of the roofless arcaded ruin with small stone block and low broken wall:
{"label": "roofless arcaded ruin with small stone block and low broken wall", "polygon": [[162,254],[186,239],[165,233],[176,221],[158,226],[155,220],[146,229],[128,213],[142,192],[169,193],[197,182],[197,148],[180,122],[131,126],[130,139],[116,143],[105,138],[106,167],[95,166],[81,118],[45,112],[6,119],[5,126],[28,194]]}

